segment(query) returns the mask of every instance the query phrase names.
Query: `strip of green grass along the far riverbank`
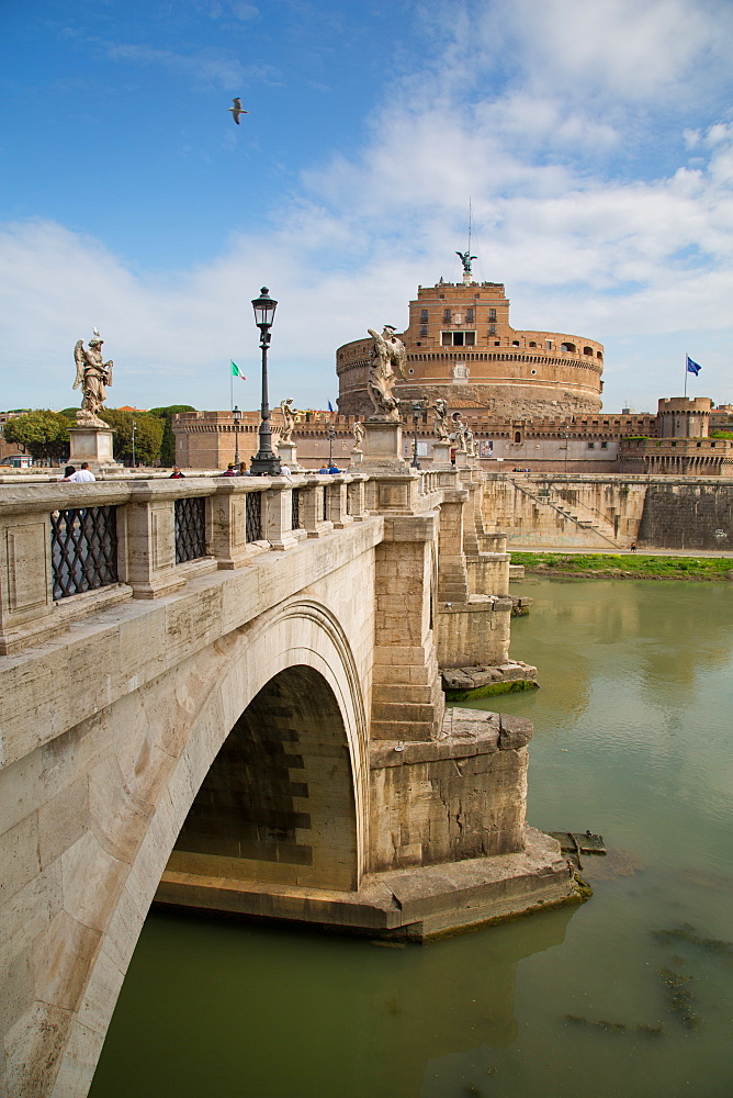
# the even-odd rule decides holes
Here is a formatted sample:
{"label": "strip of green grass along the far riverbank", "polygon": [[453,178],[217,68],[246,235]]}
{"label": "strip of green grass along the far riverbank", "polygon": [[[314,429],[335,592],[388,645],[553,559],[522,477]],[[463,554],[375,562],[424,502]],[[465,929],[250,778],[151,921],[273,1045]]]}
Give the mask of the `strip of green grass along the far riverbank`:
{"label": "strip of green grass along the far riverbank", "polygon": [[532,575],[619,580],[733,580],[733,557],[647,557],[644,553],[511,552]]}

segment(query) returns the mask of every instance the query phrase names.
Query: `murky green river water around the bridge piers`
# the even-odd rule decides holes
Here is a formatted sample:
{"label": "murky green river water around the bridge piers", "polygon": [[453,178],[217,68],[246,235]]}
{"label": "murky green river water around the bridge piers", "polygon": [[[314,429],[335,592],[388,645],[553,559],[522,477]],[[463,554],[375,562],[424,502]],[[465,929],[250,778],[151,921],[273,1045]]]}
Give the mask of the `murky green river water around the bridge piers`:
{"label": "murky green river water around the bridge piers", "polygon": [[589,903],[427,945],[153,914],[92,1098],[729,1098],[733,584],[539,581],[529,821]]}

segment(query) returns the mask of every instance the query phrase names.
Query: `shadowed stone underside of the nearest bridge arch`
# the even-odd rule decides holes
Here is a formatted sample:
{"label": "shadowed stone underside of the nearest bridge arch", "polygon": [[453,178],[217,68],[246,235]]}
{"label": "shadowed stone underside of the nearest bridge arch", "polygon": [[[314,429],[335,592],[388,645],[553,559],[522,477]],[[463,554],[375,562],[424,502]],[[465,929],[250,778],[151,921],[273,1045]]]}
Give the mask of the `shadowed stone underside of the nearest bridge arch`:
{"label": "shadowed stone underside of the nearest bridge arch", "polygon": [[354,809],[334,692],[305,664],[280,671],[236,720],[193,800],[168,861],[168,898],[180,873],[187,894],[190,875],[357,888]]}

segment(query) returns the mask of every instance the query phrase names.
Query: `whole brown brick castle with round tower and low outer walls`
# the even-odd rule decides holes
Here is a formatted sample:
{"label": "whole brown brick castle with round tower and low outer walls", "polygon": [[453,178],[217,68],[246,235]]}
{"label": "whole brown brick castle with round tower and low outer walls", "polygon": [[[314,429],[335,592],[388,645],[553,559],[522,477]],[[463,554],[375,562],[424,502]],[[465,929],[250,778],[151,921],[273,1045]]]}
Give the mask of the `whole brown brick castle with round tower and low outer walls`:
{"label": "whole brown brick castle with round tower and low outer walls", "polygon": [[[429,406],[442,400],[471,427],[477,457],[488,470],[731,475],[733,445],[709,437],[711,430],[730,429],[730,406],[713,408],[702,396],[665,397],[656,414],[601,411],[602,344],[587,336],[514,328],[504,284],[475,282],[465,255],[462,282],[440,279],[418,287],[399,337],[407,363],[395,395],[408,422],[413,404],[421,404],[416,425],[421,458],[432,458]],[[331,456],[341,466],[349,463],[353,423],[373,413],[368,392],[372,346],[365,336],[337,349],[338,415],[301,413],[293,440],[303,466],[318,468]],[[278,408],[272,424],[277,435]],[[258,412],[244,414],[237,452],[246,460],[257,448],[258,425]],[[233,427],[228,412],[177,416],[179,464],[223,468],[235,455]],[[405,435],[405,457],[414,440]]]}

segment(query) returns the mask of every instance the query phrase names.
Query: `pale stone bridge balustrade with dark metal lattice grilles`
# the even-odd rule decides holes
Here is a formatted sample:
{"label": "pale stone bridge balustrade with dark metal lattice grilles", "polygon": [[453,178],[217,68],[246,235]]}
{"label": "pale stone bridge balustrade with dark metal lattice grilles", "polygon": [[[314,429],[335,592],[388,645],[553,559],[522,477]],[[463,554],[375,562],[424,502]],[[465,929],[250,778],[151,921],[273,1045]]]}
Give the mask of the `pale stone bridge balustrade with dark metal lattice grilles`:
{"label": "pale stone bridge balustrade with dark metal lattice grilles", "polygon": [[158,598],[366,516],[364,474],[0,490],[0,654],[125,598]]}

